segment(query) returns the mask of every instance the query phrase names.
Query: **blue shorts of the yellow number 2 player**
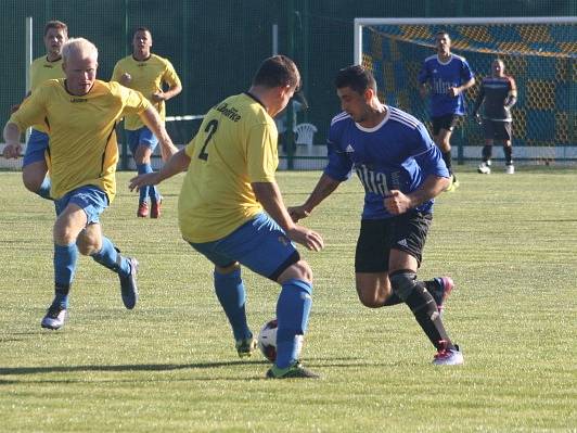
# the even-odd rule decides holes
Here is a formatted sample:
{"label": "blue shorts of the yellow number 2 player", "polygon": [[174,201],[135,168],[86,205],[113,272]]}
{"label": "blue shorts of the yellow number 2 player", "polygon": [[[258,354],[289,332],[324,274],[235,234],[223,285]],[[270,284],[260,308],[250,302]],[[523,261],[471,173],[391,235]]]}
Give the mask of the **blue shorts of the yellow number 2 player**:
{"label": "blue shorts of the yellow number 2 player", "polygon": [[284,230],[265,213],[218,241],[190,244],[220,268],[239,262],[273,281],[300,259]]}

